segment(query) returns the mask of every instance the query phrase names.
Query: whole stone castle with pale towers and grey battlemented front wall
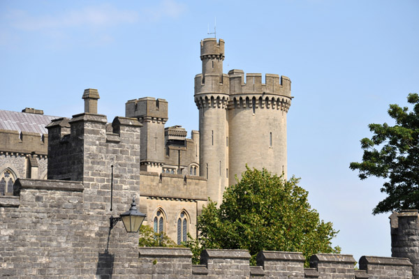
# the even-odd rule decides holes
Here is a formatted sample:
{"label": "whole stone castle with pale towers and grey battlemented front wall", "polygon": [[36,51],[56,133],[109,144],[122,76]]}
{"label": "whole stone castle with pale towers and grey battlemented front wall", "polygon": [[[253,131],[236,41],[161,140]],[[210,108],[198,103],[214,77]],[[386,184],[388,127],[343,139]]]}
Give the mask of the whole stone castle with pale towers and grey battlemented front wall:
{"label": "whole stone castle with pale towers and grey battlemented front wall", "polygon": [[[11,119],[0,121],[0,276],[419,278],[417,211],[392,215],[393,256],[403,258],[362,257],[360,271],[351,255],[325,254],[304,269],[298,252],[263,251],[250,267],[244,250],[205,250],[193,266],[189,249],[138,248],[138,235],[110,228],[110,217],[140,197],[145,224],[180,243],[188,232],[196,237],[208,197],[221,202],[246,163],[286,176],[291,81],[266,75],[263,84],[260,74],[244,81],[242,70],[223,74],[223,40],[207,38],[200,50],[199,132],[191,139],[181,126],[165,128],[168,103],[159,98],[128,100],[126,115],[108,123],[98,114],[96,89],[84,91],[84,112],[71,119],[33,109],[0,112]],[[42,123],[47,135],[35,129]]]}

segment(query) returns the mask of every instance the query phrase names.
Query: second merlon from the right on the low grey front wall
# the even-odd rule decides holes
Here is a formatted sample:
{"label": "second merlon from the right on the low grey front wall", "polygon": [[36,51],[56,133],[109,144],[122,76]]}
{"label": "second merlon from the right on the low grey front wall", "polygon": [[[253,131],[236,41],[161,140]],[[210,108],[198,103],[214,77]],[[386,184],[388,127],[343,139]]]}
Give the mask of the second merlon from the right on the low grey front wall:
{"label": "second merlon from the right on the low grey front wall", "polygon": [[310,257],[310,267],[317,269],[318,278],[355,278],[352,255],[316,254]]}

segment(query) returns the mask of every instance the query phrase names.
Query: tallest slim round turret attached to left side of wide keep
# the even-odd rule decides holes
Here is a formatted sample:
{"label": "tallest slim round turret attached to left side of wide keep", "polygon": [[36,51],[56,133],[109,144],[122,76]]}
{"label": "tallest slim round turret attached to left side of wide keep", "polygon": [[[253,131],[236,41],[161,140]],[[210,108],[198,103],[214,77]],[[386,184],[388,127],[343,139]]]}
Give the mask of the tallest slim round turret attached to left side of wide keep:
{"label": "tallest slim round turret attached to left side of wide keep", "polygon": [[200,176],[207,178],[207,196],[221,204],[228,186],[228,75],[223,74],[224,41],[200,42],[203,73],[195,77],[199,110]]}

